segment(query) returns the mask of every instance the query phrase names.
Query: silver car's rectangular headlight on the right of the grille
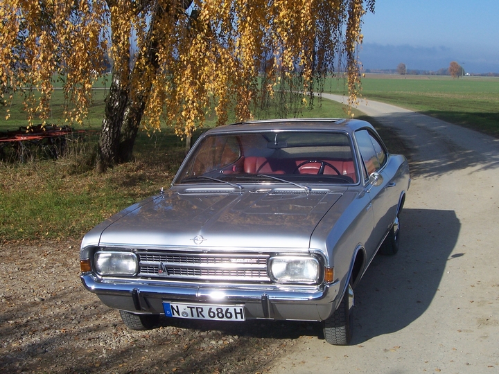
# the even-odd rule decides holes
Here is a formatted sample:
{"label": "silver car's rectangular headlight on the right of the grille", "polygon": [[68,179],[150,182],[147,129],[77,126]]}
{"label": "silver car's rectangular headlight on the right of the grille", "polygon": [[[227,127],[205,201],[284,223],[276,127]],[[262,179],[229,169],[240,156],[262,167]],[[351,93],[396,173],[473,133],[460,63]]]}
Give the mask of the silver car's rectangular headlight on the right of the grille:
{"label": "silver car's rectangular headlight on the right of the grille", "polygon": [[317,258],[276,256],[270,258],[270,277],[279,283],[317,283],[320,264]]}

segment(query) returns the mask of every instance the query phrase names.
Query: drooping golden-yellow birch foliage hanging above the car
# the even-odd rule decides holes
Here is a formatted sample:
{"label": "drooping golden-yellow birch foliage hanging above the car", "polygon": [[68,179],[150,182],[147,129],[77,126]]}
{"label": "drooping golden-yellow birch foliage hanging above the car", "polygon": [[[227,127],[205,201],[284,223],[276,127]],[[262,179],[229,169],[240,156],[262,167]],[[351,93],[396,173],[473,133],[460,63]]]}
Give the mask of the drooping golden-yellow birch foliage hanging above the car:
{"label": "drooping golden-yellow birch foliage hanging above the car", "polygon": [[181,136],[202,125],[212,110],[219,124],[228,121],[231,109],[245,120],[252,117],[252,103],[274,89],[310,92],[314,78],[338,70],[340,61],[355,103],[364,1],[193,0],[188,5],[186,0],[2,0],[1,99],[8,105],[10,94],[22,90],[30,123],[45,121],[60,79],[67,98],[64,116],[81,123],[92,83],[105,73],[110,55],[131,102],[144,102],[143,126],[159,129],[166,121]]}

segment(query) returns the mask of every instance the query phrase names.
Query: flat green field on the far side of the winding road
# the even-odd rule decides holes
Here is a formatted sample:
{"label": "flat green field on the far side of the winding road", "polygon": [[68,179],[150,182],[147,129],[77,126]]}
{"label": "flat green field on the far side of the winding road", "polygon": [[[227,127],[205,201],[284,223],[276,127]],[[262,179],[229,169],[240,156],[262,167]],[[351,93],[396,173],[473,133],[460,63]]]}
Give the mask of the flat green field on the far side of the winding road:
{"label": "flat green field on the far side of the winding road", "polygon": [[[343,94],[344,84],[330,80],[324,89]],[[368,74],[362,96],[499,137],[499,78]]]}

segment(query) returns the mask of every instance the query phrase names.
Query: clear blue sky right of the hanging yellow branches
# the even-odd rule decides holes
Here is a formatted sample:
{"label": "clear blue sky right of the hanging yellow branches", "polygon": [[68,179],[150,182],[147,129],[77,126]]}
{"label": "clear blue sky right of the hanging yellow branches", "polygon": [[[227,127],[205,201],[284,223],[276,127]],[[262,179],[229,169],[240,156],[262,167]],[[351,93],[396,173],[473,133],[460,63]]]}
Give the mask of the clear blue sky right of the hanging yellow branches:
{"label": "clear blue sky right of the hanging yellow branches", "polygon": [[499,73],[499,0],[376,0],[362,34],[364,69]]}

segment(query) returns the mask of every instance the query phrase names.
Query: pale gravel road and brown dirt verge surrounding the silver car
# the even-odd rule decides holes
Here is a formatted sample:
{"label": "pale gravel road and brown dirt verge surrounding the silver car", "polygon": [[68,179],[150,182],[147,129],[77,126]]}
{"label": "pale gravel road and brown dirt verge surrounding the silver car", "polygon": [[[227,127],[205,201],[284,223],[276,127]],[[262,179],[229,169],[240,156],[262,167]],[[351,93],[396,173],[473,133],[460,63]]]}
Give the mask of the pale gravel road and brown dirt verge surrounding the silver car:
{"label": "pale gravel road and brown dirt verge surrounding the silver car", "polygon": [[[341,97],[324,98],[342,100]],[[1,373],[498,373],[499,141],[369,102],[412,150],[401,251],[356,288],[352,346],[314,323],[161,320],[146,332],[85,291],[73,242],[0,243]]]}

